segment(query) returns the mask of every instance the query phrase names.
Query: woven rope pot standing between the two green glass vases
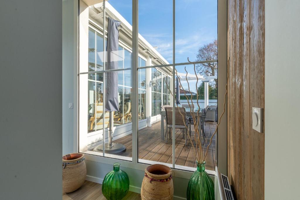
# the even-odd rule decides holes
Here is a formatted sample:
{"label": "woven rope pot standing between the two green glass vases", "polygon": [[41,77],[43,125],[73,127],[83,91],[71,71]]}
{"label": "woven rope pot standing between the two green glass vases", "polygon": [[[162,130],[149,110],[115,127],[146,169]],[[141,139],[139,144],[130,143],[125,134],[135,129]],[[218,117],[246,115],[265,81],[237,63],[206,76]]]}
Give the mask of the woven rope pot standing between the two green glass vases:
{"label": "woven rope pot standing between the two green glass vases", "polygon": [[145,177],[141,188],[143,200],[173,199],[172,170],[165,165],[150,165],[145,169]]}

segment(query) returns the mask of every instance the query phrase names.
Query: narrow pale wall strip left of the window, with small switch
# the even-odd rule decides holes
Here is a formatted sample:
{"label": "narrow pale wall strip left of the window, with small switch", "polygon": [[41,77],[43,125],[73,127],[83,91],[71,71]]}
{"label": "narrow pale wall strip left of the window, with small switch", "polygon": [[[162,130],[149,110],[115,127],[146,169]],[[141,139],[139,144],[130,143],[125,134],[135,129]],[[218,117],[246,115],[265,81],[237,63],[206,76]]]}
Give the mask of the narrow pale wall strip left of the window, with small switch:
{"label": "narrow pale wall strip left of the window, with small switch", "polygon": [[[76,121],[77,88],[77,16],[78,1],[66,0],[62,2],[62,155],[73,153],[74,150],[74,119]],[[73,103],[73,109],[69,109]]]}

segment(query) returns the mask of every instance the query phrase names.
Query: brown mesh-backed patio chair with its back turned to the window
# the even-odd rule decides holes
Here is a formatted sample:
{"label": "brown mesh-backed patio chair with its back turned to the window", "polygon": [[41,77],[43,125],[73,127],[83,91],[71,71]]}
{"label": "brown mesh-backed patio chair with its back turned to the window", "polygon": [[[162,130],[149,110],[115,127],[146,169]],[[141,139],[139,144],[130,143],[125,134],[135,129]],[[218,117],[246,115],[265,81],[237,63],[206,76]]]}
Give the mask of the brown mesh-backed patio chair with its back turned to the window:
{"label": "brown mesh-backed patio chair with its back turned to the window", "polygon": [[[171,129],[173,129],[173,108],[172,107],[165,107],[166,110],[166,125],[167,129],[169,130],[169,137],[171,139]],[[182,118],[183,115],[183,118]],[[185,108],[175,108],[175,129],[182,130],[182,138],[187,134],[187,127],[186,127],[186,115],[185,115]],[[166,133],[166,143],[168,140],[168,134]],[[185,145],[187,145],[187,137],[185,137]]]}

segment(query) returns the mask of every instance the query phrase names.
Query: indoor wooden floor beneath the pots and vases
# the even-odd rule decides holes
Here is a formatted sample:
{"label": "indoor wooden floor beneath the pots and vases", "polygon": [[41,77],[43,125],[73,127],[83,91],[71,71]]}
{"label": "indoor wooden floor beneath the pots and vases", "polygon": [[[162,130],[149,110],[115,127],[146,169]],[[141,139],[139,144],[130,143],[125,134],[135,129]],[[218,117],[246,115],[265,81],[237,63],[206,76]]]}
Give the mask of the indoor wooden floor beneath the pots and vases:
{"label": "indoor wooden floor beneath the pots and vases", "polygon": [[[85,181],[84,184],[76,191],[72,193],[63,193],[62,200],[105,200],[106,198],[102,194],[102,185]],[[123,199],[138,200],[141,199],[141,195],[134,192],[128,192]]]}

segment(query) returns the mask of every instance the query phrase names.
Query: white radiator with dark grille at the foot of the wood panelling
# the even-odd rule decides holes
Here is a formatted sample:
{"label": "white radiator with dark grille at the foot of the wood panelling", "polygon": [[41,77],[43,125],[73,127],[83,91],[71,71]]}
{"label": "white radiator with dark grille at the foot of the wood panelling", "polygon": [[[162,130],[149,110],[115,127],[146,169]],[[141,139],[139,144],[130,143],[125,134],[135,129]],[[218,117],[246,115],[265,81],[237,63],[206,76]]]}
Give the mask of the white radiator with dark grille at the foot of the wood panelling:
{"label": "white radiator with dark grille at the foot of the wood panelling", "polygon": [[234,200],[228,177],[221,174],[218,167],[214,176],[214,198],[215,200]]}

